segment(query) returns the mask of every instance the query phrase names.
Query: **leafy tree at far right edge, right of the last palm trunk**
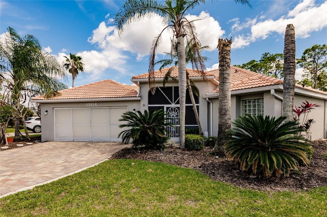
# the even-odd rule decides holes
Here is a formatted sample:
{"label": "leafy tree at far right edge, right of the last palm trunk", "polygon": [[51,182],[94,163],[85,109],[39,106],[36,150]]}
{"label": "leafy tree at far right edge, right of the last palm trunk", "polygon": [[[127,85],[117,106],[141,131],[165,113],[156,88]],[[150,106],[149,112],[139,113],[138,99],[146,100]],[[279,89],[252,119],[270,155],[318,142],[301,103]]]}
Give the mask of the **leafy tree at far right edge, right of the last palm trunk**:
{"label": "leafy tree at far right edge, right of the last palm trunk", "polygon": [[[297,65],[303,68],[303,78],[312,81],[310,85],[314,89],[325,90],[327,88],[325,77],[327,68],[327,45],[315,44],[303,51],[301,59],[297,59]],[[321,75],[322,74],[322,75]],[[320,77],[319,77],[320,75]]]}

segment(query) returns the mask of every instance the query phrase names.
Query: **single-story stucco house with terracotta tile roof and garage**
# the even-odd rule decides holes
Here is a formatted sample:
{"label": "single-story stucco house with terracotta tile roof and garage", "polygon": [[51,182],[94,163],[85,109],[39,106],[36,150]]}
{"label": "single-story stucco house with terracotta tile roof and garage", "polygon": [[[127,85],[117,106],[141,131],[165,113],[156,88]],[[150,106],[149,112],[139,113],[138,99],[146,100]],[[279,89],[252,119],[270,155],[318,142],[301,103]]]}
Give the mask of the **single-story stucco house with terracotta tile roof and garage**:
{"label": "single-story stucco house with terracotta tile roof and garage", "polygon": [[[231,66],[231,119],[245,114],[282,116],[283,80]],[[163,108],[175,124],[169,135],[179,141],[178,67],[173,67],[171,79],[162,82],[169,68],[155,71],[156,91],[149,92],[148,73],[133,76],[134,85],[124,85],[110,79],[60,91],[45,98],[35,97],[41,104],[42,141],[121,141],[123,130],[119,119],[126,111]],[[195,96],[201,127],[205,135],[218,133],[219,70],[206,72],[206,81],[196,70],[188,69],[190,79],[198,87]],[[327,92],[296,85],[294,106],[304,101],[316,103],[308,118],[314,119],[311,140],[326,138]],[[303,117],[302,117],[303,118]],[[189,93],[186,93],[185,127],[196,127]]]}

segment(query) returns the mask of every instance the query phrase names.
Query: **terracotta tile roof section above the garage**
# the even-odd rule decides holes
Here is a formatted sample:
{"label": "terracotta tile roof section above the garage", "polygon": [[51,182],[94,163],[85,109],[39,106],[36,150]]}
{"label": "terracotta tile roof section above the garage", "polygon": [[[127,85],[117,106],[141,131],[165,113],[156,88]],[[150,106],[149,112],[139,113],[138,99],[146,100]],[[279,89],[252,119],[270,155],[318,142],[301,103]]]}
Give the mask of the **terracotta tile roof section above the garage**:
{"label": "terracotta tile roof section above the garage", "polygon": [[[135,85],[124,85],[114,80],[101,80],[76,88],[59,91],[59,95],[46,99],[90,99],[90,98],[121,98],[136,97],[138,87]],[[33,98],[33,100],[45,99],[44,96]]]}

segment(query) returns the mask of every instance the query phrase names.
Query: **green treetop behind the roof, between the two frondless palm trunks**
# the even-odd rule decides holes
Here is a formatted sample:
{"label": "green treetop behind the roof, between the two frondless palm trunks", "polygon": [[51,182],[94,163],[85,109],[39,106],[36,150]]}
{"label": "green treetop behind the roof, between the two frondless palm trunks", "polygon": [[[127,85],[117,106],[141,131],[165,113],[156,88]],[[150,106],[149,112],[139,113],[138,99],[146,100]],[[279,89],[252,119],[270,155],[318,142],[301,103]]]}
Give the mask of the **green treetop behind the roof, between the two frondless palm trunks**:
{"label": "green treetop behind the roof, between the two frondless palm trunks", "polygon": [[253,72],[258,72],[268,76],[283,78],[284,77],[284,55],[283,53],[271,54],[265,52],[259,61],[251,60],[237,67],[247,69]]}

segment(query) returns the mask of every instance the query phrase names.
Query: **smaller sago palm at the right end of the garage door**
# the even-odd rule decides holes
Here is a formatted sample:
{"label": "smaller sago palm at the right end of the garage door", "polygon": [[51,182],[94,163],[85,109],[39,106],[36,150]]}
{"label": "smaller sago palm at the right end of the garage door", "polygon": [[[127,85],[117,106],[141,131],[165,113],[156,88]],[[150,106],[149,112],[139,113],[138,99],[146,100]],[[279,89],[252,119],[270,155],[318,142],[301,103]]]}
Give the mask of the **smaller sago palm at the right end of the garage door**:
{"label": "smaller sago palm at the right end of the garage door", "polygon": [[126,124],[119,125],[120,128],[128,127],[119,133],[122,141],[126,144],[133,141],[133,148],[145,146],[148,149],[164,149],[169,137],[166,135],[167,126],[172,126],[166,118],[164,110],[149,112],[140,111],[126,112],[119,121],[126,121]]}

